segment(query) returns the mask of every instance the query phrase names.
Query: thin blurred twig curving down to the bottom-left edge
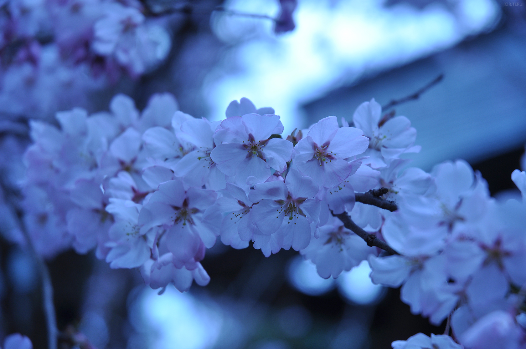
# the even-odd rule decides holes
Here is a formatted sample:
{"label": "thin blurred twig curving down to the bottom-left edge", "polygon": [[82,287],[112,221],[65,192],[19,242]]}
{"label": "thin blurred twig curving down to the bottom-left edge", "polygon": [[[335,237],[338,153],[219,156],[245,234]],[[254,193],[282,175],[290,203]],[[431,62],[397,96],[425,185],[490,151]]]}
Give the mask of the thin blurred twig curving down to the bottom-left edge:
{"label": "thin blurred twig curving down to the bottom-left edge", "polygon": [[[40,256],[37,253],[35,246],[33,245],[33,241],[31,240],[31,237],[29,236],[29,233],[26,230],[24,221],[22,219],[22,212],[17,212],[17,205],[14,202],[14,197],[17,196],[17,193],[15,192],[15,190],[6,186],[6,184],[2,180],[0,180],[0,187],[4,192],[4,197],[6,201],[7,199],[10,199],[8,200],[9,204],[11,204],[11,206],[16,212],[15,215],[18,219],[18,225],[20,227],[20,230],[22,231],[22,234],[24,235],[24,239],[27,242],[29,254],[31,254],[33,261],[37,265],[38,272],[42,278],[42,302],[47,325],[47,347],[48,349],[57,349],[57,320],[55,314],[55,305],[53,302],[53,283],[51,281],[51,276],[49,275],[49,270],[47,269],[47,265],[44,262],[42,256]],[[8,191],[11,192],[11,195],[8,194]]]}

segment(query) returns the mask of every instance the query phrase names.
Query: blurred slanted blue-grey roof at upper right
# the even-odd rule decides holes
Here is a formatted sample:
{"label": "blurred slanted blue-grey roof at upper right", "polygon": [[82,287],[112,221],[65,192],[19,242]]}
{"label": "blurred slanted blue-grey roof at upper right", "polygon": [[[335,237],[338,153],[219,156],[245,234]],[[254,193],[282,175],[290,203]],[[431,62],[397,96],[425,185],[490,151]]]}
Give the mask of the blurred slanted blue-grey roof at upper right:
{"label": "blurred slanted blue-grey roof at upper right", "polygon": [[309,122],[328,115],[352,119],[361,102],[385,105],[410,95],[440,73],[442,82],[417,101],[396,107],[417,129],[422,146],[412,166],[463,158],[480,161],[526,142],[526,37],[507,27],[304,105]]}

